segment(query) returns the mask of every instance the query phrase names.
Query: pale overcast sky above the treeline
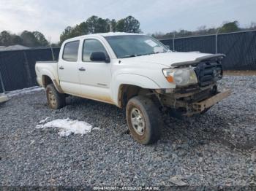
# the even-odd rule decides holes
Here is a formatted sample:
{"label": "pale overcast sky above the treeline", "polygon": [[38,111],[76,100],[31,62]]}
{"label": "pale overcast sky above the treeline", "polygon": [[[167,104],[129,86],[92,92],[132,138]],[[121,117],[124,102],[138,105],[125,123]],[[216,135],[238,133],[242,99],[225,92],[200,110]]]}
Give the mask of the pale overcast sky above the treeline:
{"label": "pale overcast sky above the treeline", "polygon": [[145,34],[217,27],[233,20],[246,27],[256,22],[255,7],[256,0],[0,0],[0,31],[40,31],[58,42],[64,28],[91,15],[116,20],[132,15]]}

